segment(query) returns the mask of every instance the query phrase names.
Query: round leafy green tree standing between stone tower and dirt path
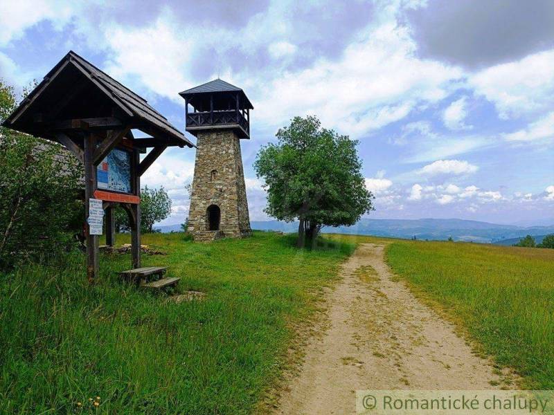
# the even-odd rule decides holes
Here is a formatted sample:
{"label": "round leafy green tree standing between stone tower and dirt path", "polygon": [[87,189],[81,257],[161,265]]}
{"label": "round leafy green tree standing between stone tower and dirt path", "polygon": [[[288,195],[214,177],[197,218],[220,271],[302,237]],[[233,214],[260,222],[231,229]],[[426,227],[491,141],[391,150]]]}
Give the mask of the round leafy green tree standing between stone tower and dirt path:
{"label": "round leafy green tree standing between stone tower and dirt path", "polygon": [[316,117],[296,117],[262,147],[254,169],[265,180],[265,212],[298,219],[298,246],[315,243],[323,225],[353,225],[373,210],[357,155],[357,141],[324,129]]}

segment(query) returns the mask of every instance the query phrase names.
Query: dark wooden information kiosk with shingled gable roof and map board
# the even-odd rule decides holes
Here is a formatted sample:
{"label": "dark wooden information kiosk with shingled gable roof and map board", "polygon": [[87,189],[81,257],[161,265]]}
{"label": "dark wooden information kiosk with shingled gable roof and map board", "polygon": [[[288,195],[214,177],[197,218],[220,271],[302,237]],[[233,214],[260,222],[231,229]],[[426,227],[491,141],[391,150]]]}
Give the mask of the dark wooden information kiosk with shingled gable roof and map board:
{"label": "dark wooden information kiosk with shingled gable roof and map board", "polygon": [[[148,102],[70,51],[3,123],[64,145],[84,166],[87,277],[98,274],[101,201],[106,242],[114,244],[114,205],[131,225],[132,267],[141,266],[141,176],[167,147],[195,147]],[[132,130],[148,134],[135,138]],[[141,161],[140,154],[150,152]],[[100,232],[99,232],[100,226]]]}

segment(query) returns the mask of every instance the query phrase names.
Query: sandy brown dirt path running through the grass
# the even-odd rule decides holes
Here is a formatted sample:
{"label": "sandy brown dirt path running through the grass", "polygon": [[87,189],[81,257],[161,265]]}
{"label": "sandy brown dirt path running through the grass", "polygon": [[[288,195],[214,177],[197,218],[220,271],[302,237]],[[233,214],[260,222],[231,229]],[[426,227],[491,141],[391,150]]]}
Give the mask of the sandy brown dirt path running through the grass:
{"label": "sandy brown dirt path running through the grass", "polygon": [[352,414],[356,389],[494,389],[492,366],[393,282],[383,251],[366,243],[343,265],[328,329],[310,340],[277,414]]}

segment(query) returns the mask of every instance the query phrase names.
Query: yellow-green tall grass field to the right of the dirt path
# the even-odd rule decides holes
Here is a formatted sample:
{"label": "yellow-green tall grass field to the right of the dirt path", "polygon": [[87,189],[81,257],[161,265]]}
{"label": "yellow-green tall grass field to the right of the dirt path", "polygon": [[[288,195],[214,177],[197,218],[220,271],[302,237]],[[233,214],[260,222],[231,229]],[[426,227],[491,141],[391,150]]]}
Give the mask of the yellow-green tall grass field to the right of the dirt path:
{"label": "yellow-green tall grass field to the right of the dirt path", "polygon": [[554,250],[395,241],[386,255],[526,387],[554,389]]}

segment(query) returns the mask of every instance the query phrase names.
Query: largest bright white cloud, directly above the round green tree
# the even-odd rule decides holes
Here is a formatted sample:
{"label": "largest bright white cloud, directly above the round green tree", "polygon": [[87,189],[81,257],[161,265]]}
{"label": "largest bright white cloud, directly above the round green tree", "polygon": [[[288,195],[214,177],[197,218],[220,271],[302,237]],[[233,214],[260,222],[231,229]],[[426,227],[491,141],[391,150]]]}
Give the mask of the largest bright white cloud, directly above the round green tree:
{"label": "largest bright white cloud, directly above the round green tree", "polygon": [[457,68],[417,59],[416,48],[395,21],[368,28],[341,59],[316,59],[310,68],[260,82],[257,117],[278,125],[316,113],[324,125],[352,136],[400,120],[420,102],[445,98],[450,81],[461,76]]}

